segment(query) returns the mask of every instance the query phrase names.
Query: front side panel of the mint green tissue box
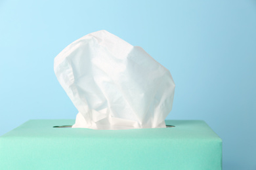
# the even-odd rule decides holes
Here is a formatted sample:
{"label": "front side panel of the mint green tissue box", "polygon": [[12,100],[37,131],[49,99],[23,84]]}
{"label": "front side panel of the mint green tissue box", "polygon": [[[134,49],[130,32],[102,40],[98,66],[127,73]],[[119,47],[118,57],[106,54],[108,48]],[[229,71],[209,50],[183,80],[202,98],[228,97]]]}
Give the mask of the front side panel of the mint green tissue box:
{"label": "front side panel of the mint green tissue box", "polygon": [[221,169],[217,141],[32,138],[0,149],[0,169]]}

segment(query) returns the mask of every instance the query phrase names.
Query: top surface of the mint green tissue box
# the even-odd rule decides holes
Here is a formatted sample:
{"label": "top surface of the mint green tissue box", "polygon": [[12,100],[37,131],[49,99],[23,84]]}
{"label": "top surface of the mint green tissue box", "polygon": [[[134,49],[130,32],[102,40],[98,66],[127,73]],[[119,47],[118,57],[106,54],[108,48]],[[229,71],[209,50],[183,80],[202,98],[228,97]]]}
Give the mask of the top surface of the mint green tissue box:
{"label": "top surface of the mint green tissue box", "polygon": [[113,139],[211,139],[220,140],[219,136],[202,120],[165,120],[167,125],[175,127],[155,129],[95,130],[86,128],[58,128],[68,126],[75,120],[29,120],[5,137],[58,137],[58,138],[113,138]]}

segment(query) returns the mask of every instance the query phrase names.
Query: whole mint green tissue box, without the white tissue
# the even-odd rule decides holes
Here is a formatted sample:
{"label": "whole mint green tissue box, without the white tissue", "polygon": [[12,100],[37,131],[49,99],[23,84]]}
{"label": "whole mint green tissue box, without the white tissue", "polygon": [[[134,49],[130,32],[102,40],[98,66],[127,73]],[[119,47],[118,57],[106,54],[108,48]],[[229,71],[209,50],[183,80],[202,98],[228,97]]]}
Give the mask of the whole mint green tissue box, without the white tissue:
{"label": "whole mint green tissue box, without the white tissue", "polygon": [[74,120],[29,120],[0,137],[0,169],[222,169],[222,141],[201,120],[175,127],[56,128]]}

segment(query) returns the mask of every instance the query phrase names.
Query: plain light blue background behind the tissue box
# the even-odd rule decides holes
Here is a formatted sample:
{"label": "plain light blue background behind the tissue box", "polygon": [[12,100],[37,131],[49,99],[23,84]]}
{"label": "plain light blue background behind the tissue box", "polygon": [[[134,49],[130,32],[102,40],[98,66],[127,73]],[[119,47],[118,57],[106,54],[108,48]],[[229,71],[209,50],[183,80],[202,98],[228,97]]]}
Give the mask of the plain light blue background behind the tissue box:
{"label": "plain light blue background behind the tissue box", "polygon": [[75,118],[53,59],[101,29],[171,71],[167,119],[205,120],[223,139],[223,169],[256,169],[256,1],[0,1],[0,135]]}

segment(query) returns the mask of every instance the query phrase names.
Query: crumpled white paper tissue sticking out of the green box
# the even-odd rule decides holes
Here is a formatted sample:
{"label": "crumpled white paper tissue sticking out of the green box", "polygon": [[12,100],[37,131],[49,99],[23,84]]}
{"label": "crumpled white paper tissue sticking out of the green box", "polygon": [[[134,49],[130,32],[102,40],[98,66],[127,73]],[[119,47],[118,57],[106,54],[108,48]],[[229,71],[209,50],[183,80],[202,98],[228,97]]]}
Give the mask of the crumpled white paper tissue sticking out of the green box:
{"label": "crumpled white paper tissue sticking out of the green box", "polygon": [[175,84],[171,73],[139,46],[96,31],[62,50],[54,72],[79,111],[72,127],[166,127]]}

